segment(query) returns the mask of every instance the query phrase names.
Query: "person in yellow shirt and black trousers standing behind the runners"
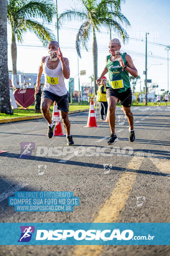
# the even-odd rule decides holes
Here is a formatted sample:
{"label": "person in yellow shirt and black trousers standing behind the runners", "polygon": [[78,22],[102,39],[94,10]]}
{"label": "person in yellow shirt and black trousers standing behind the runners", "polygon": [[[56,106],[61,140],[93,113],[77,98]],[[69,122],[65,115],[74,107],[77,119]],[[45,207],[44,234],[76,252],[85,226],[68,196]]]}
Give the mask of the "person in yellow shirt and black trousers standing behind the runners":
{"label": "person in yellow shirt and black trousers standing behind the runners", "polygon": [[104,115],[106,117],[107,111],[108,111],[108,102],[106,99],[106,77],[103,76],[101,84],[99,85],[99,88],[97,90],[97,101],[100,103],[100,115],[101,120],[104,120]]}

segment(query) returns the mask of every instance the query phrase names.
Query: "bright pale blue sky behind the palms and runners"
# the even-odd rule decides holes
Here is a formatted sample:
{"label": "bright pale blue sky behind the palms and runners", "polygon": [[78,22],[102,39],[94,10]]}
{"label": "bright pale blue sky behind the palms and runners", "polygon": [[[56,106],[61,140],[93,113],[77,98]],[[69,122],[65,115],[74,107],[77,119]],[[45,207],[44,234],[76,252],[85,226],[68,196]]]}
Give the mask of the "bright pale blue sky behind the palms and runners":
{"label": "bright pale blue sky behind the palms and runners", "polygon": [[[58,0],[59,14],[71,6],[79,8],[79,0]],[[144,39],[145,32],[149,32],[148,41],[160,44],[170,44],[170,1],[169,0],[127,0],[122,5],[122,13],[130,21],[131,27],[126,30],[130,38]],[[55,19],[53,25],[48,27],[55,31]],[[59,30],[59,44],[63,55],[70,61],[71,77],[77,75],[77,52],[75,50],[75,39],[77,30],[81,22],[65,22]],[[97,32],[98,43],[98,76],[105,66],[105,56],[108,55],[109,31],[101,28],[101,33]],[[118,37],[113,33],[113,38]],[[121,38],[119,38],[122,42]],[[11,29],[8,25],[8,44],[11,44]],[[17,43],[18,44],[18,43]],[[26,45],[26,47],[23,47]],[[37,73],[41,57],[47,55],[47,50],[42,47],[42,43],[33,34],[28,32],[24,36],[23,45],[17,47],[17,69],[24,73]],[[38,46],[38,47],[37,47]],[[159,84],[160,89],[167,90],[167,51],[165,47],[147,45],[148,52],[148,79]],[[92,38],[88,43],[89,51],[82,49],[82,58],[79,59],[79,69],[86,70],[86,76],[80,76],[80,83],[90,82],[89,76],[93,73],[92,62]],[[127,52],[133,59],[141,81],[144,80],[143,70],[145,69],[145,43],[135,40],[129,40],[128,43],[122,43],[122,50]],[[152,52],[152,54],[151,54]],[[157,56],[157,57],[154,57]],[[170,51],[169,51],[170,56]],[[159,58],[161,57],[161,58]],[[153,65],[154,64],[154,65]],[[157,64],[157,65],[155,65]],[[161,65],[159,65],[161,64]],[[8,47],[8,68],[11,69],[11,53]],[[169,67],[170,70],[170,67]],[[169,72],[170,73],[170,72]],[[169,80],[170,83],[170,80]],[[68,86],[68,81],[66,81]],[[142,82],[142,87],[144,86]],[[75,79],[75,89],[78,89],[78,81]],[[139,91],[139,84],[136,87]],[[157,90],[158,93],[158,90]]]}

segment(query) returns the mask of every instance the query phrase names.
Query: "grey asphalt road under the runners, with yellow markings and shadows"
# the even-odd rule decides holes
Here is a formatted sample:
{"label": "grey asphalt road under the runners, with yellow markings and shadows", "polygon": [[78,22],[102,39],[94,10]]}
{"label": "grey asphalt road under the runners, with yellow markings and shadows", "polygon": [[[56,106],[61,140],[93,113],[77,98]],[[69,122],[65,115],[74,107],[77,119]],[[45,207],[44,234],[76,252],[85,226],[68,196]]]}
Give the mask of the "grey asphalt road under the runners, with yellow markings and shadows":
{"label": "grey asphalt road under the runners, with yellow markings and shadows", "polygon": [[[8,151],[0,154],[0,221],[170,222],[170,107],[132,112],[135,142],[117,108],[114,145],[107,144],[108,123],[97,119],[98,128],[84,128],[88,112],[69,115],[72,147],[65,136],[48,139],[44,119],[0,125],[0,150]],[[22,143],[34,143],[29,159],[20,157]],[[19,190],[72,191],[80,204],[73,212],[15,212],[8,197]],[[0,246],[0,256],[7,255],[169,256],[170,246]]]}

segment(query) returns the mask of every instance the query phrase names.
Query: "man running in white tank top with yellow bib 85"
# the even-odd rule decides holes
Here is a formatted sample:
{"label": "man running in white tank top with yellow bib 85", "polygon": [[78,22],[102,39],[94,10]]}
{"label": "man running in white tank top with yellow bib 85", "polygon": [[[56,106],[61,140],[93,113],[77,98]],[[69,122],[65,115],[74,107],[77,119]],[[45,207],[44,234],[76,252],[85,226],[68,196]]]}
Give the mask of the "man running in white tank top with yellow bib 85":
{"label": "man running in white tank top with yellow bib 85", "polygon": [[62,56],[57,41],[48,44],[49,56],[42,57],[37,75],[36,93],[40,87],[40,78],[44,70],[45,84],[41,96],[42,115],[48,122],[48,138],[54,136],[56,124],[51,119],[50,107],[56,101],[57,108],[61,111],[61,120],[67,133],[67,145],[73,145],[70,134],[70,121],[68,119],[69,103],[68,92],[64,79],[70,77],[68,58]]}

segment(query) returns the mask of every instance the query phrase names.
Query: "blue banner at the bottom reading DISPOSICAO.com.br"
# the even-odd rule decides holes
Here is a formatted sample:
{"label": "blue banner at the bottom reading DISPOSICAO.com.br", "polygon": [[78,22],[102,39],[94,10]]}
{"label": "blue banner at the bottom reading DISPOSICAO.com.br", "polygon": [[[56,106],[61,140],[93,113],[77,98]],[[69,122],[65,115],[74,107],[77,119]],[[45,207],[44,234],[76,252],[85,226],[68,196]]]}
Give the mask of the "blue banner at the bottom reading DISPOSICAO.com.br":
{"label": "blue banner at the bottom reading DISPOSICAO.com.br", "polygon": [[170,223],[0,223],[0,245],[170,245]]}

